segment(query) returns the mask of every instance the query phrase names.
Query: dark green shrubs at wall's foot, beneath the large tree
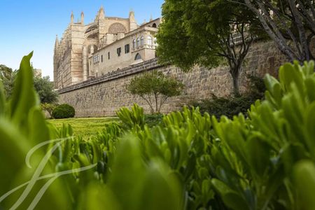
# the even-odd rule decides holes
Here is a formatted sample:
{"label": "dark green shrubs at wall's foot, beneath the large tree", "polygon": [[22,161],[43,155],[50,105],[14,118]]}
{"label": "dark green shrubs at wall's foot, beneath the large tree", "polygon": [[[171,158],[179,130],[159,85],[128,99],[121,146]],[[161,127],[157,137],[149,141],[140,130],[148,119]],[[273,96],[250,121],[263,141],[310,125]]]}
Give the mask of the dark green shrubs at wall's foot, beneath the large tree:
{"label": "dark green shrubs at wall's foot, beneath the large tree", "polygon": [[211,99],[204,99],[201,102],[190,102],[190,106],[199,107],[200,112],[207,112],[211,116],[220,119],[221,116],[227,116],[232,119],[242,113],[248,115],[248,109],[257,99],[263,99],[266,87],[262,78],[258,76],[248,75],[247,92],[240,96],[217,97],[212,95]]}

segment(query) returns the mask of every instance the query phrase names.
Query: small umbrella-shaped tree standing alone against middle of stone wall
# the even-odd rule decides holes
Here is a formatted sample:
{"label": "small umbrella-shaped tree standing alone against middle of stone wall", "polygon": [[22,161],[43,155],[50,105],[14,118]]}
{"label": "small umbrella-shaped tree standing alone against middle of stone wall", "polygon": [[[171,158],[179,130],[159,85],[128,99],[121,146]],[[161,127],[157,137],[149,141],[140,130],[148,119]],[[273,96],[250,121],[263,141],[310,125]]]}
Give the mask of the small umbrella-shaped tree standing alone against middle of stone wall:
{"label": "small umbrella-shaped tree standing alone against middle of stone wall", "polygon": [[152,113],[159,113],[166,100],[181,94],[182,89],[183,83],[176,78],[165,76],[160,71],[147,72],[132,78],[127,85],[127,90],[148,102]]}

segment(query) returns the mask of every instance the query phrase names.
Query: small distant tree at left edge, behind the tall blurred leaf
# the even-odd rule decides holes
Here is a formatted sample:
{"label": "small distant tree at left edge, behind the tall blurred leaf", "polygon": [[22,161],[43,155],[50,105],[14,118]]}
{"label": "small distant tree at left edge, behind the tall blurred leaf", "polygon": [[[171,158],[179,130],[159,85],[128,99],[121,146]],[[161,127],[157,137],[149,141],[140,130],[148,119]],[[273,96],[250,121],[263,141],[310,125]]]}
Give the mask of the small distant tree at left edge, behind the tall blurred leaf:
{"label": "small distant tree at left edge, behind the tall blurred leaf", "polygon": [[17,70],[13,71],[8,66],[0,65],[0,80],[3,83],[7,98],[10,97],[13,92],[14,80],[17,73]]}

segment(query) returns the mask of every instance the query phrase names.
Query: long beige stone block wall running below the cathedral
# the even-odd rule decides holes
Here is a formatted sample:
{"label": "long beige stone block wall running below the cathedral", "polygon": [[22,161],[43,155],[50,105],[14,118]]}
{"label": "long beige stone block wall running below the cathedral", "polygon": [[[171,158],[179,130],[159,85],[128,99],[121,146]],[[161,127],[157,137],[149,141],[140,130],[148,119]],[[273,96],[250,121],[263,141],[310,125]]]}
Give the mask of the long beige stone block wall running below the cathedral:
{"label": "long beige stone block wall running below the cathedral", "polygon": [[[274,76],[277,69],[285,61],[276,46],[270,42],[254,43],[244,62],[244,72],[255,75],[270,73]],[[59,90],[59,103],[71,104],[76,109],[76,117],[114,116],[121,106],[132,106],[137,103],[148,112],[149,106],[140,97],[133,96],[125,90],[125,86],[134,76],[145,71],[158,69],[169,76],[175,76],[186,85],[179,97],[168,99],[162,108],[167,113],[180,109],[190,100],[207,99],[211,94],[218,96],[228,95],[232,90],[232,77],[228,66],[219,66],[215,69],[195,68],[183,73],[176,66],[162,66],[157,59],[152,59],[137,66],[121,69],[104,76],[87,80]],[[241,90],[246,89],[245,73],[241,74]]]}

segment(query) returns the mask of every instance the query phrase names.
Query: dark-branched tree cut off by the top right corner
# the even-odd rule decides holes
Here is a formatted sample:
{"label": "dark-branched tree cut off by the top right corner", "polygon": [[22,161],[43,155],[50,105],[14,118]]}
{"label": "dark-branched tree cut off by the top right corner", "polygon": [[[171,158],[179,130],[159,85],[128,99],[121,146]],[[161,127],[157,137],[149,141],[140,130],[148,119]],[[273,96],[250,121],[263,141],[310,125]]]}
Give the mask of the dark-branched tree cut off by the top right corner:
{"label": "dark-branched tree cut off by the top right corner", "polygon": [[310,43],[315,35],[312,0],[244,0],[259,18],[279,50],[293,62],[314,59]]}

